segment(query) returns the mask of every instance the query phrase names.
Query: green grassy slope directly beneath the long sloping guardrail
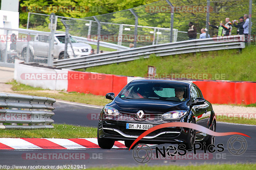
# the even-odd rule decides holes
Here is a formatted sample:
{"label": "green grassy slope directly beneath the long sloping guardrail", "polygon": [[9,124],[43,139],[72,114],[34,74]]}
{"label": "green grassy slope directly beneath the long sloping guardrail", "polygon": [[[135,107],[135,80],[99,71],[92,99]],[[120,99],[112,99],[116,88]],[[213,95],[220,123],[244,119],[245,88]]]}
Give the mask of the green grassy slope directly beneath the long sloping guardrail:
{"label": "green grassy slope directly beneath the long sloping guardrail", "polygon": [[223,80],[256,81],[255,55],[256,48],[252,45],[244,48],[241,53],[237,49],[230,49],[164,57],[151,55],[147,59],[95,66],[86,71],[145,77],[148,65],[152,65],[158,74],[208,73],[207,79],[211,78],[210,75],[224,74]]}

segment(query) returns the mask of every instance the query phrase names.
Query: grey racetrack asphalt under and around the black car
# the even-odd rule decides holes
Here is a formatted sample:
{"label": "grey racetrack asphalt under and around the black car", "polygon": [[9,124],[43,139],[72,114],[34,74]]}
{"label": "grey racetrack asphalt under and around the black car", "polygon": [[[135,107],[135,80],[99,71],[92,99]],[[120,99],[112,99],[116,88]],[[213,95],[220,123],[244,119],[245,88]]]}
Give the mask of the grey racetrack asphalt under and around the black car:
{"label": "grey racetrack asphalt under and around the black car", "polygon": [[[56,109],[54,110],[55,115],[53,116],[54,123],[66,123],[80,126],[93,126],[97,127],[97,120],[89,120],[87,118],[88,114],[97,114],[100,112],[101,108],[86,107],[80,105],[73,105],[68,103],[56,102],[54,104]],[[151,159],[147,165],[188,165],[191,164],[203,164],[203,163],[256,163],[256,126],[246,126],[246,125],[236,125],[217,122],[217,132],[241,132],[249,137],[244,137],[247,141],[247,150],[242,155],[232,155],[227,149],[228,139],[232,136],[216,137],[215,145],[223,144],[224,152],[215,152],[211,156],[200,158],[196,156],[194,158],[187,157],[187,159]],[[170,144],[164,144],[167,148]],[[162,148],[163,145],[158,145]],[[177,147],[177,145],[174,145]],[[234,143],[236,149],[240,148],[241,144],[239,142]],[[156,146],[151,147],[154,149]],[[203,153],[202,150],[197,151],[197,153]],[[29,160],[24,157],[26,153],[86,153],[89,154],[89,158],[86,160],[79,159],[68,159],[68,160],[41,160],[33,159]],[[153,150],[153,154],[156,153]],[[193,152],[188,152],[193,153]],[[23,156],[22,156],[23,154]],[[128,149],[77,149],[77,150],[50,150],[50,149],[40,149],[40,150],[0,150],[0,164],[1,165],[24,165],[24,166],[47,166],[47,165],[84,165],[86,168],[92,166],[138,166],[142,165],[134,161],[132,157],[132,150]],[[96,158],[100,159],[96,159]],[[182,158],[182,157],[180,157]],[[192,158],[192,159],[191,159]]]}

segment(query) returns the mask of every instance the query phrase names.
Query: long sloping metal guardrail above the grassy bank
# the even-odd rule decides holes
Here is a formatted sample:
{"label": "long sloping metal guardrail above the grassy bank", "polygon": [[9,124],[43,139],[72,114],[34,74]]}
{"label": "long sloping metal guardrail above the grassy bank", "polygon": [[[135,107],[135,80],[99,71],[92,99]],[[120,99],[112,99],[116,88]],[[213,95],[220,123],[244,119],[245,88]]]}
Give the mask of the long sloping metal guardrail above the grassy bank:
{"label": "long sloping metal guardrail above the grassy bank", "polygon": [[156,54],[157,56],[168,56],[234,48],[245,48],[244,35],[195,39],[130,48],[122,51],[112,51],[58,60],[54,61],[53,65],[56,66],[56,68],[80,69],[98,65],[127,62],[140,58],[148,58],[151,54]]}

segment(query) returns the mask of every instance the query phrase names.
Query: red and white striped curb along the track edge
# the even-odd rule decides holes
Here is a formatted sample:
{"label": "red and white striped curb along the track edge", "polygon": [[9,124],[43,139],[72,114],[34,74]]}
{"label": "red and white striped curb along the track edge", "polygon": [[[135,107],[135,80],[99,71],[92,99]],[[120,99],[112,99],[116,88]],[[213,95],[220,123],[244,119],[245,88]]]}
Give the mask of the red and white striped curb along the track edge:
{"label": "red and white striped curb along the track edge", "polygon": [[[0,138],[0,149],[88,149],[100,148],[97,138]],[[116,141],[113,149],[126,148]]]}

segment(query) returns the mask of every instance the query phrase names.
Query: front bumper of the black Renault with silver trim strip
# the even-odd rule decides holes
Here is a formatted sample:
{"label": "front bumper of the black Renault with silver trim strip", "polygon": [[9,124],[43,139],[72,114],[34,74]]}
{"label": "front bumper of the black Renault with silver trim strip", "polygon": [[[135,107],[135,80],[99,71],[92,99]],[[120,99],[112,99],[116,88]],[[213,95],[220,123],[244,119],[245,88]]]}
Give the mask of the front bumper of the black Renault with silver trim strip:
{"label": "front bumper of the black Renault with silver trim strip", "polygon": [[[180,121],[164,121],[169,122],[180,122]],[[163,122],[163,123],[164,123]],[[162,123],[152,123],[151,121],[113,121],[113,120],[99,120],[99,137],[100,138],[111,138],[117,140],[135,140],[146,130],[138,129],[126,129],[126,123],[143,123],[153,124],[153,127]],[[144,144],[162,144],[162,143],[184,143],[188,140],[188,128],[182,127],[169,127],[155,130],[143,137],[140,142]]]}

